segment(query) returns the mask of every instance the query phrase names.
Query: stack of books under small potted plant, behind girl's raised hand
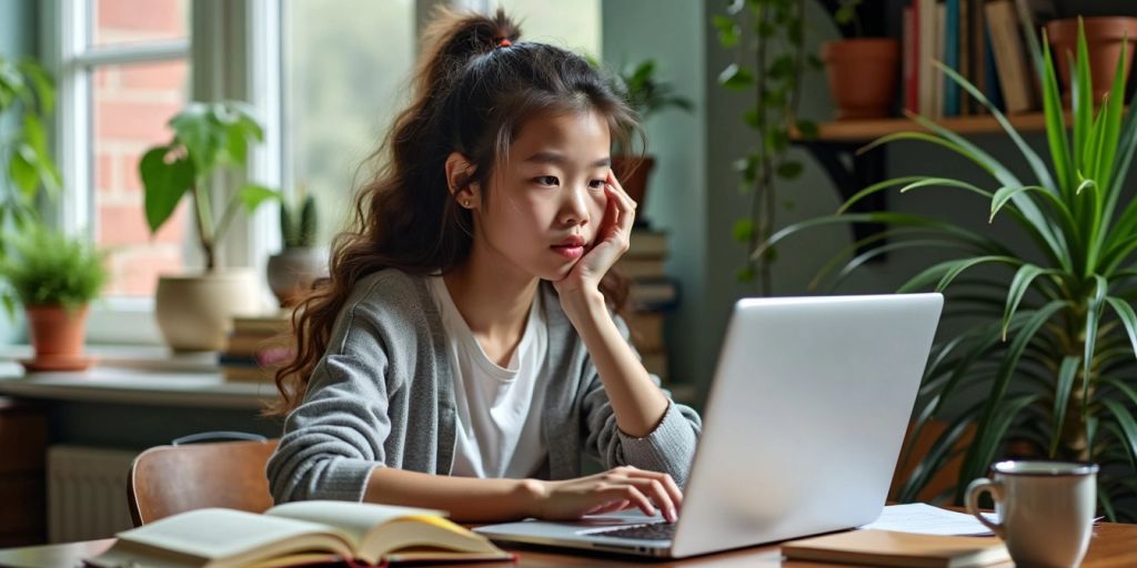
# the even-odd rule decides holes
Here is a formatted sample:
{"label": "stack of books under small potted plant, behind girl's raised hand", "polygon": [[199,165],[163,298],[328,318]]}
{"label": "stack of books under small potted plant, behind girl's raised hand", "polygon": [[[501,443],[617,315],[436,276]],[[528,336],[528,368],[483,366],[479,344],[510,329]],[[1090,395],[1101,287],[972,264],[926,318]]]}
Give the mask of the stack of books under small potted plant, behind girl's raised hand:
{"label": "stack of books under small potted plant, behind girl's raised hand", "polygon": [[663,321],[679,302],[679,287],[663,270],[667,260],[667,234],[649,228],[632,229],[631,244],[616,268],[631,278],[628,326],[632,343],[644,359],[648,373],[667,381],[667,352],[663,341]]}

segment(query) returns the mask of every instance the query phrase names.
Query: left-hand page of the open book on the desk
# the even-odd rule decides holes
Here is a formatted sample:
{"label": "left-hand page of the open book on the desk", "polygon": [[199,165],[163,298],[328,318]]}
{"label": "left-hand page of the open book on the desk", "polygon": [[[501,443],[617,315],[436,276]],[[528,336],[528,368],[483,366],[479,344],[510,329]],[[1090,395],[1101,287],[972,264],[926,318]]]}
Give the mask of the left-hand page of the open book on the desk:
{"label": "left-hand page of the open book on the desk", "polygon": [[117,536],[124,551],[165,550],[175,557],[192,556],[202,560],[248,559],[304,549],[350,554],[332,527],[232,509],[183,512]]}

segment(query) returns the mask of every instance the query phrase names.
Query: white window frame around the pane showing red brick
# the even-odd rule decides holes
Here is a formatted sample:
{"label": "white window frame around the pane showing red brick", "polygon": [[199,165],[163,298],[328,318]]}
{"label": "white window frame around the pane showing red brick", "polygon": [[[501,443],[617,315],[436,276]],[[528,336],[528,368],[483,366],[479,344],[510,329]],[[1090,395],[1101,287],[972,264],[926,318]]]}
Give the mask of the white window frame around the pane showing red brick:
{"label": "white window frame around the pane showing red brick", "polygon": [[[44,208],[49,224],[70,235],[91,236],[94,226],[92,90],[90,69],[102,65],[169,61],[190,62],[190,99],[239,99],[262,112],[265,143],[249,153],[243,176],[217,176],[211,184],[215,207],[223,207],[247,176],[279,186],[280,149],[280,17],[275,0],[192,0],[190,39],[139,44],[90,45],[91,0],[48,0],[41,11],[41,53],[57,77],[53,143],[65,191]],[[209,37],[213,41],[193,41]],[[233,223],[218,251],[219,266],[249,266],[258,274],[280,236],[272,223],[273,207]],[[192,224],[183,243],[188,266],[200,266]],[[265,304],[271,294],[263,283]],[[89,343],[160,344],[153,298],[101,298],[91,306]]]}

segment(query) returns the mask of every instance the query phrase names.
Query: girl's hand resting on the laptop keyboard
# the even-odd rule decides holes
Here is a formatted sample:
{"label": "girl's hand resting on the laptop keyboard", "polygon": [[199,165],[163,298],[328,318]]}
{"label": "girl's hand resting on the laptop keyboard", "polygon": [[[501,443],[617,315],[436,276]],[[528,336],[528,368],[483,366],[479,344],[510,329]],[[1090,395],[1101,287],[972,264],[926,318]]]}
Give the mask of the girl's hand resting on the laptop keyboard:
{"label": "girl's hand resting on the laptop keyboard", "polygon": [[[683,504],[683,493],[667,474],[621,466],[601,474],[559,482],[529,479],[533,493],[533,516],[550,520],[574,520],[638,508],[674,523]],[[654,504],[653,504],[654,502]]]}

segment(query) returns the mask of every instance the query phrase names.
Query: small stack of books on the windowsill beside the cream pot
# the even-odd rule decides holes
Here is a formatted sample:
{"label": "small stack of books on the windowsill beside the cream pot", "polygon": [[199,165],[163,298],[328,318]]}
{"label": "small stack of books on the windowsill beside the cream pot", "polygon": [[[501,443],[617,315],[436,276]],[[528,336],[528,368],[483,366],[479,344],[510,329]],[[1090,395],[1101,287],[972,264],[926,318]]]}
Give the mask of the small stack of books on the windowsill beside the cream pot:
{"label": "small stack of books on the windowsill beside the cream pot", "polygon": [[272,382],[291,354],[291,311],[259,317],[234,317],[225,350],[217,357],[225,381]]}

